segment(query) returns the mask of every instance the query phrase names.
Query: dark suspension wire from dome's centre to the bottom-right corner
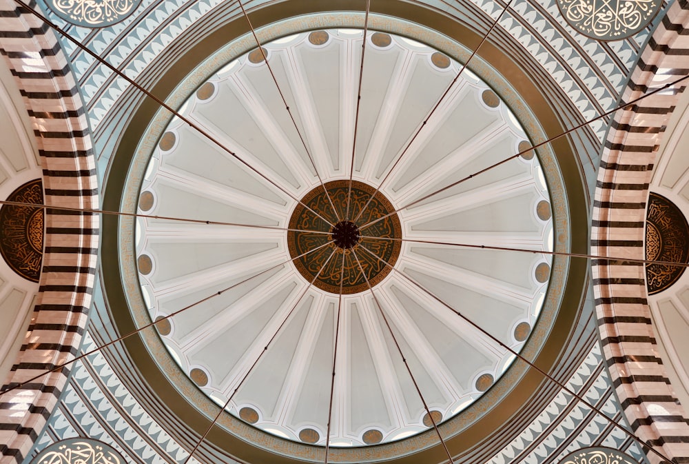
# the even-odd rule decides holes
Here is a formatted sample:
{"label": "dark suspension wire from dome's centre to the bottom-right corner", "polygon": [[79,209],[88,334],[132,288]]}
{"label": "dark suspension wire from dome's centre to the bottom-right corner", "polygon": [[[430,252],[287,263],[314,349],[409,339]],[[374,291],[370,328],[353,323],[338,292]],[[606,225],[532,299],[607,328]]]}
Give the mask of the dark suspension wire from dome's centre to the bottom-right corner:
{"label": "dark suspension wire from dome's centre to the bottom-right corner", "polygon": [[432,299],[434,299],[435,301],[438,301],[438,303],[440,303],[440,304],[443,305],[444,307],[448,308],[448,309],[451,310],[453,313],[457,314],[457,316],[460,316],[460,318],[462,318],[466,323],[468,323],[469,325],[471,325],[471,327],[474,327],[476,330],[478,330],[479,332],[481,332],[481,333],[484,334],[485,336],[489,337],[489,339],[495,341],[495,343],[497,343],[497,345],[500,345],[500,347],[502,347],[504,350],[508,351],[510,354],[513,354],[513,356],[516,356],[516,357],[519,358],[521,361],[524,361],[524,363],[526,363],[526,364],[528,365],[528,367],[532,367],[533,369],[537,370],[537,372],[539,372],[540,374],[542,374],[542,376],[544,376],[546,379],[548,379],[548,380],[550,380],[551,382],[555,383],[555,385],[557,385],[558,387],[560,387],[562,390],[564,390],[564,391],[567,392],[568,394],[574,396],[579,402],[584,403],[584,405],[590,407],[591,410],[593,410],[594,412],[596,412],[597,414],[599,414],[601,417],[603,417],[606,421],[608,421],[608,423],[612,424],[614,427],[617,427],[619,430],[621,430],[622,432],[624,432],[624,433],[625,433],[626,435],[628,435],[630,438],[632,438],[633,440],[637,441],[637,443],[640,443],[642,447],[648,447],[649,450],[651,450],[654,454],[657,454],[657,456],[659,456],[661,459],[664,459],[664,461],[667,461],[668,463],[671,462],[670,459],[668,459],[666,456],[664,456],[664,454],[662,454],[661,452],[655,450],[655,448],[652,447],[652,445],[648,445],[647,443],[644,443],[644,441],[642,441],[641,438],[639,438],[638,436],[636,436],[633,432],[630,432],[629,430],[626,429],[626,427],[624,427],[623,425],[620,425],[619,423],[617,423],[616,421],[614,421],[612,418],[609,418],[608,416],[606,416],[606,414],[604,414],[604,412],[602,412],[602,411],[599,410],[597,407],[595,407],[593,404],[589,403],[589,402],[588,402],[586,399],[584,399],[582,396],[580,396],[579,394],[577,394],[576,392],[574,392],[573,390],[571,390],[571,389],[570,389],[569,387],[567,387],[564,383],[562,383],[562,382],[558,381],[557,379],[555,379],[555,377],[551,376],[551,375],[548,374],[546,371],[542,370],[540,367],[538,367],[537,365],[535,365],[533,362],[528,361],[524,356],[522,356],[522,354],[520,354],[519,352],[513,350],[511,347],[509,347],[508,345],[506,345],[506,343],[503,343],[502,341],[500,341],[500,339],[497,339],[497,337],[493,336],[493,335],[490,334],[487,330],[484,330],[484,328],[480,327],[480,325],[478,325],[477,323],[471,321],[471,319],[469,319],[468,317],[464,316],[464,314],[462,314],[461,312],[455,310],[455,309],[454,309],[453,307],[451,307],[449,304],[447,304],[447,303],[445,303],[444,301],[442,301],[442,299],[440,299],[438,296],[435,296],[432,292],[430,292],[429,290],[426,290],[426,288],[424,288],[423,285],[421,285],[420,283],[418,283],[417,281],[415,281],[415,280],[412,279],[411,277],[407,276],[407,274],[404,274],[404,272],[402,272],[402,271],[396,269],[394,266],[390,265],[390,263],[388,263],[388,262],[385,261],[384,259],[382,259],[382,258],[380,258],[379,256],[377,256],[375,253],[373,253],[371,250],[369,250],[367,247],[365,247],[362,243],[359,243],[359,246],[360,246],[361,248],[363,248],[366,252],[368,252],[369,254],[371,254],[371,256],[373,256],[373,257],[375,257],[376,259],[378,259],[378,261],[380,261],[381,263],[383,263],[383,264],[386,265],[387,267],[391,268],[391,270],[393,270],[394,272],[396,272],[396,273],[399,274],[400,276],[404,277],[404,279],[406,279],[407,281],[413,283],[413,285],[415,285],[416,287],[418,287],[418,288],[419,288],[420,290],[422,290],[425,294],[431,296]]}

